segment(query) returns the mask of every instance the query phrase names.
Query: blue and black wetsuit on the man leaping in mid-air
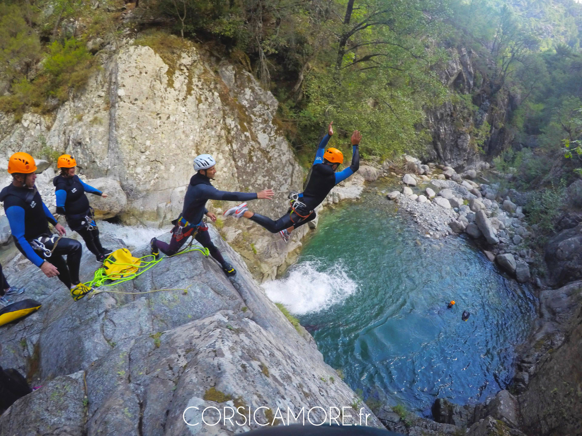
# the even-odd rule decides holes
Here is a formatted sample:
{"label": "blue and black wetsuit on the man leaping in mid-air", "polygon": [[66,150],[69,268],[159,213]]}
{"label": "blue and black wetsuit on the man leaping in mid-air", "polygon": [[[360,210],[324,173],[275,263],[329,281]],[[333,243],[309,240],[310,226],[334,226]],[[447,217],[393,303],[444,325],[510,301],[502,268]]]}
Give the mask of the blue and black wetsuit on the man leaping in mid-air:
{"label": "blue and black wetsuit on the man leaping in mid-air", "polygon": [[353,145],[352,165],[337,173],[333,171],[332,166],[329,163],[325,163],[323,159],[325,146],[329,138],[329,135],[325,135],[321,140],[317,153],[315,153],[313,166],[311,167],[311,177],[307,182],[305,190],[299,194],[299,201],[307,206],[306,209],[299,215],[289,208],[287,213],[276,221],[258,213],[250,217],[250,220],[265,227],[271,233],[277,233],[291,226],[294,228],[303,226],[303,224],[315,219],[315,208],[324,201],[329,191],[341,181],[352,176],[360,168],[359,146]]}

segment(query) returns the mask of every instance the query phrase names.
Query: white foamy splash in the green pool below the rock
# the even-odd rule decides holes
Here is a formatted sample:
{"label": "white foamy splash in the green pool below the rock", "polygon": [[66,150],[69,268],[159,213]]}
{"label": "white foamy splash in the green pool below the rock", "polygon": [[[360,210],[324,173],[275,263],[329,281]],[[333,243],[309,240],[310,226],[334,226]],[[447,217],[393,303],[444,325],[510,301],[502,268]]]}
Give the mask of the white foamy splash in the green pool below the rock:
{"label": "white foamy splash in the green pool below the rock", "polygon": [[358,285],[342,265],[321,270],[317,260],[301,262],[285,277],[265,282],[262,287],[271,301],[282,303],[294,315],[328,309],[356,292]]}

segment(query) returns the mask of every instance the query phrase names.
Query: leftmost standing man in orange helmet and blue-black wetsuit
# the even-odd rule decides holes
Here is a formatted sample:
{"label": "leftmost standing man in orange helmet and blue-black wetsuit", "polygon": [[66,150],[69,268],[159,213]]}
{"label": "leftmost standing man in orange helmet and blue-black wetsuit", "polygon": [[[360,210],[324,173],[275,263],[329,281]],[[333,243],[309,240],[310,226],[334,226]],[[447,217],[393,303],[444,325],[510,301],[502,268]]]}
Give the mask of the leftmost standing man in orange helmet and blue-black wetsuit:
{"label": "leftmost standing man in orange helmet and blue-black wetsuit", "polygon": [[[75,301],[91,291],[79,280],[82,246],[79,241],[62,238],[65,228],[42,202],[34,181],[36,163],[29,153],[14,153],[8,160],[12,183],[0,192],[16,248],[47,277],[59,277]],[[60,240],[49,230],[55,226]],[[63,259],[67,256],[67,260]]]}

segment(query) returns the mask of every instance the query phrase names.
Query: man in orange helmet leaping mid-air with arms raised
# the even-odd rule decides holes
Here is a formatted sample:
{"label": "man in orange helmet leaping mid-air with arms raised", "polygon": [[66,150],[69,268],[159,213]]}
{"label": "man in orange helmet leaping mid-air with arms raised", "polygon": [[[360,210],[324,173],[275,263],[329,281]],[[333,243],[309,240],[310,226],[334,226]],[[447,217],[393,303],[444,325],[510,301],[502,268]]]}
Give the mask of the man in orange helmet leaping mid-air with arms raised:
{"label": "man in orange helmet leaping mid-air with arms raised", "polygon": [[[303,224],[315,218],[315,208],[329,194],[332,188],[352,176],[360,168],[360,151],[359,145],[362,135],[359,131],[354,130],[352,134],[352,165],[346,169],[335,172],[343,163],[343,153],[337,148],[328,148],[325,150],[329,138],[333,135],[333,121],[329,123],[328,134],[321,140],[320,145],[315,153],[315,160],[311,167],[311,177],[303,192],[292,192],[289,194],[291,207],[285,215],[274,221],[264,215],[251,212],[247,208],[247,203],[241,203],[234,208],[224,212],[225,216],[234,216],[236,218],[245,217],[255,223],[265,227],[271,233],[279,233],[283,241],[289,241],[290,232],[294,228],[303,226]],[[325,152],[324,152],[325,150]]]}

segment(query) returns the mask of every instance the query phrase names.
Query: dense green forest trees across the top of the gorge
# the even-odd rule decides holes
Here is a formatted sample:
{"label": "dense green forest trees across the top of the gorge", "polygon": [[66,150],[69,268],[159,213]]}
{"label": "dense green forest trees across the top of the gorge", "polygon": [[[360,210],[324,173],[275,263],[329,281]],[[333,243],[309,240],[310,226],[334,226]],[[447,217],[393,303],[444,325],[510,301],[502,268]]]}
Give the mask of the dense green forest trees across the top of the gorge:
{"label": "dense green forest trees across the top of the gorge", "polygon": [[[134,19],[121,20],[128,6]],[[579,145],[581,30],[574,0],[8,0],[0,3],[0,109],[16,120],[54,110],[97,67],[90,40],[115,50],[122,38],[149,35],[172,49],[178,40],[162,34],[173,33],[247,65],[281,103],[299,154],[332,119],[337,146],[358,128],[364,156],[421,153],[431,141],[427,110],[450,102],[473,117],[471,145],[484,158],[498,151],[491,134],[509,131],[511,147],[496,162],[532,158],[525,177],[533,180],[540,149]],[[457,48],[470,53],[471,89],[444,74]],[[496,105],[508,98],[512,110],[501,116]]]}

